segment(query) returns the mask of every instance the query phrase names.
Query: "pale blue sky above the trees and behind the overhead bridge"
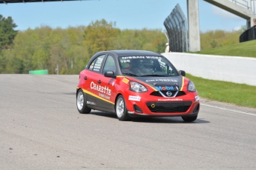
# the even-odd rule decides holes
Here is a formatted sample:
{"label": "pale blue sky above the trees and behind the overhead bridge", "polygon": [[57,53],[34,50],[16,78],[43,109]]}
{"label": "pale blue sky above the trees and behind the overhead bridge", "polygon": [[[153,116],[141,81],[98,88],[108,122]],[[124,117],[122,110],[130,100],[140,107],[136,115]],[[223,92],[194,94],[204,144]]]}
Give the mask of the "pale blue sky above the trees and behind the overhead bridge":
{"label": "pale blue sky above the trees and behind the overhead bridge", "polygon": [[[0,4],[0,14],[11,16],[16,30],[47,25],[76,27],[101,20],[116,21],[119,29],[161,29],[174,7],[180,4],[187,16],[186,0],[91,0]],[[206,1],[199,0],[200,30],[237,30],[246,20],[234,16]]]}

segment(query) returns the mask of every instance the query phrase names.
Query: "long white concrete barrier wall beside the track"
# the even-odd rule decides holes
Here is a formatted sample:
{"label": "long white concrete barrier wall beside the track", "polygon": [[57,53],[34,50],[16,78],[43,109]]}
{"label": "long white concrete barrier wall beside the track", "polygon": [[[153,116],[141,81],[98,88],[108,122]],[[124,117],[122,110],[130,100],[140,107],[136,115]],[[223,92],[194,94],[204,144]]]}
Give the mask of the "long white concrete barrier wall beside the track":
{"label": "long white concrete barrier wall beside the track", "polygon": [[256,86],[256,58],[183,52],[169,52],[162,55],[178,70],[184,70],[197,77]]}

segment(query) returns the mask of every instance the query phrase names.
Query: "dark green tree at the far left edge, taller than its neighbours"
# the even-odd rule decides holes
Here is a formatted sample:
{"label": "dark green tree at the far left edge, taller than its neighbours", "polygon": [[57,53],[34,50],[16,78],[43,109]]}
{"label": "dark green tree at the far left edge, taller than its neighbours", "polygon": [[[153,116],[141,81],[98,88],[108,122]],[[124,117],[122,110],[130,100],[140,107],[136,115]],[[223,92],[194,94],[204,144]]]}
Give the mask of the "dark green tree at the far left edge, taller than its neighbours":
{"label": "dark green tree at the far left edge, taller than its neighbours", "polygon": [[0,15],[0,50],[8,49],[13,44],[13,39],[18,33],[18,31],[14,30],[15,27],[17,25],[13,23],[13,19],[10,16],[4,18]]}

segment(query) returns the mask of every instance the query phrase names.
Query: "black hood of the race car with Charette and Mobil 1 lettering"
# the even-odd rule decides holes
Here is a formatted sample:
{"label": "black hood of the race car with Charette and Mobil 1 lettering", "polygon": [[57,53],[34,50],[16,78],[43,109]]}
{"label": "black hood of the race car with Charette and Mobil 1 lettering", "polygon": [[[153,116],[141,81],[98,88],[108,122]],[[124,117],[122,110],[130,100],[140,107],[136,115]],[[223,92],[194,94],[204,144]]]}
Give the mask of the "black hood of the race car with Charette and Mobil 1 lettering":
{"label": "black hood of the race car with Charette and Mobil 1 lettering", "polygon": [[157,90],[180,90],[183,86],[183,76],[173,77],[138,77],[139,81],[154,86]]}

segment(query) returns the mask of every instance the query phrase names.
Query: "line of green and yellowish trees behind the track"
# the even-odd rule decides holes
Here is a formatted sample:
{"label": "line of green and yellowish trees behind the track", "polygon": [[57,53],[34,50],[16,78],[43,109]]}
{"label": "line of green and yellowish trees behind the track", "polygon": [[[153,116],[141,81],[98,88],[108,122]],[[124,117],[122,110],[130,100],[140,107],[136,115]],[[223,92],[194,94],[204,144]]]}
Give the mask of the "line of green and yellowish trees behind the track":
{"label": "line of green and yellowish trees behind the track", "polygon": [[[88,26],[53,29],[47,26],[16,31],[12,18],[0,15],[0,73],[27,74],[47,69],[49,74],[78,74],[91,56],[103,50],[165,51],[165,33],[160,29],[120,30],[105,19]],[[241,30],[240,30],[241,32]],[[239,42],[239,31],[201,33],[201,49]]]}

